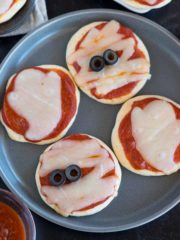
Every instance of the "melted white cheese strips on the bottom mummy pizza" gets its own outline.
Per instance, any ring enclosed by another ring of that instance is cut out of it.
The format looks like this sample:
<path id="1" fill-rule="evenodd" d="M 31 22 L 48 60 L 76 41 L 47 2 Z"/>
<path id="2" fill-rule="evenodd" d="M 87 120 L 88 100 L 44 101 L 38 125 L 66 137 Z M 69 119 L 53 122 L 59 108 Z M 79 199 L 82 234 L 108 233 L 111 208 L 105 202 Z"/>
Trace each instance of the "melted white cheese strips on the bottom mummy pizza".
<path id="1" fill-rule="evenodd" d="M 92 157 L 94 156 L 94 157 Z M 71 164 L 81 168 L 94 167 L 88 175 L 77 182 L 60 187 L 41 186 L 41 192 L 47 196 L 50 204 L 57 204 L 64 215 L 99 202 L 113 195 L 117 183 L 116 176 L 101 178 L 115 165 L 106 149 L 102 148 L 95 139 L 84 141 L 64 140 L 44 152 L 40 158 L 40 177 L 55 169 L 65 169 Z"/>

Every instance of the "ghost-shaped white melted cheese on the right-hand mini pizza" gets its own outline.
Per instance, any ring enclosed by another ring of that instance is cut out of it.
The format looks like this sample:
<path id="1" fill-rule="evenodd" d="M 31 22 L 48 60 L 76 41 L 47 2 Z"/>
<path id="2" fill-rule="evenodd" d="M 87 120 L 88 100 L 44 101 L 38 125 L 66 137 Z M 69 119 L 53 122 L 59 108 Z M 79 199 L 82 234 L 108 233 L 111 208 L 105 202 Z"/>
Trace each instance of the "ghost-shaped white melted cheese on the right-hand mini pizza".
<path id="1" fill-rule="evenodd" d="M 173 107 L 163 100 L 155 100 L 143 110 L 135 107 L 131 122 L 136 148 L 145 161 L 163 172 L 173 170 L 174 153 L 180 144 L 180 120 Z"/>

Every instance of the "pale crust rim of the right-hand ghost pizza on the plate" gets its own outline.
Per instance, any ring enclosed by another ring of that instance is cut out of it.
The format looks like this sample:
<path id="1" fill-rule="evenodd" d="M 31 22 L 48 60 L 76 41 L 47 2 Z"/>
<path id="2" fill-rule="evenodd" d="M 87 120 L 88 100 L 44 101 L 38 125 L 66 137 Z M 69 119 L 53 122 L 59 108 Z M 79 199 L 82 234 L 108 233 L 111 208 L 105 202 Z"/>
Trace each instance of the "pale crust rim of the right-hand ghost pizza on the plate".
<path id="1" fill-rule="evenodd" d="M 142 99 L 146 99 L 146 98 L 151 98 L 151 97 L 155 97 L 158 98 L 160 100 L 165 100 L 168 102 L 173 103 L 175 106 L 177 106 L 178 108 L 180 107 L 178 103 L 166 98 L 166 97 L 162 97 L 162 96 L 158 96 L 158 95 L 143 95 L 143 96 L 138 96 L 138 97 L 134 97 L 132 99 L 130 99 L 129 101 L 127 101 L 120 109 L 117 118 L 116 118 L 116 122 L 115 122 L 115 126 L 113 128 L 112 131 L 112 136 L 111 136 L 111 141 L 112 141 L 112 147 L 113 150 L 119 160 L 119 162 L 122 164 L 122 166 L 124 166 L 125 168 L 127 168 L 128 170 L 130 170 L 131 172 L 140 174 L 140 175 L 144 175 L 144 176 L 163 176 L 163 175 L 170 175 L 176 171 L 178 171 L 178 168 L 180 168 L 180 163 L 178 163 L 178 168 L 168 172 L 168 173 L 163 173 L 163 172 L 154 172 L 154 171 L 150 171 L 150 170 L 146 170 L 146 169 L 142 169 L 142 170 L 137 170 L 135 169 L 129 162 L 129 160 L 127 159 L 123 146 L 121 144 L 121 141 L 119 139 L 119 135 L 118 135 L 118 129 L 119 129 L 119 125 L 121 123 L 121 121 L 124 119 L 124 117 L 129 113 L 129 111 L 131 110 L 131 106 L 135 101 L 139 101 Z"/>

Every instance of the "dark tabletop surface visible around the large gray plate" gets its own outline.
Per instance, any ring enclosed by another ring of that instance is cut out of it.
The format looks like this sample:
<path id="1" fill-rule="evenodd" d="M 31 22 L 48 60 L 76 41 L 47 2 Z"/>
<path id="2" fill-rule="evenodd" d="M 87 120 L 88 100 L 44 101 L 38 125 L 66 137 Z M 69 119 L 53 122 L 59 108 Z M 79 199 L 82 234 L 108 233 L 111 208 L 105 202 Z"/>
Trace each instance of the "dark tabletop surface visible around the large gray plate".
<path id="1" fill-rule="evenodd" d="M 125 10 L 112 0 L 46 0 L 49 18 L 60 14 L 87 8 L 112 8 Z M 126 10 L 128 11 L 128 10 Z M 167 28 L 176 37 L 180 38 L 180 0 L 173 0 L 168 6 L 153 10 L 145 17 Z M 22 36 L 0 39 L 0 62 L 8 51 L 21 39 Z M 152 36 L 153 37 L 153 36 Z M 6 188 L 0 179 L 0 187 Z M 117 233 L 95 234 L 69 230 L 52 224 L 33 214 L 37 240 L 179 240 L 180 239 L 180 204 L 169 213 L 144 226 Z"/>

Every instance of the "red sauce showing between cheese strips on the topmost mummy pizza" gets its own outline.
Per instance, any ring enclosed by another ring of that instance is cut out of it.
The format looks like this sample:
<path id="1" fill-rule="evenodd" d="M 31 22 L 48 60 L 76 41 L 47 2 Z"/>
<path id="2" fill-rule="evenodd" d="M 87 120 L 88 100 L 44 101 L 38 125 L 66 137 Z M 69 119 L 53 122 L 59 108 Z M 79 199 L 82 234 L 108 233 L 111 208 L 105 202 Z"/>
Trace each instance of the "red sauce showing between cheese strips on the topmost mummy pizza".
<path id="1" fill-rule="evenodd" d="M 101 29 L 103 29 L 104 26 L 106 26 L 106 24 L 107 24 L 107 22 L 100 23 L 95 28 L 97 28 L 98 30 L 101 30 Z M 77 43 L 77 45 L 75 47 L 75 51 L 77 51 L 81 48 L 81 44 L 84 41 L 84 39 L 86 38 L 88 32 L 84 36 L 82 36 L 82 38 L 79 40 L 79 42 Z M 120 25 L 118 33 L 124 35 L 123 39 L 133 38 L 135 40 L 134 53 L 129 58 L 129 60 L 136 59 L 136 58 L 145 58 L 144 53 L 138 48 L 138 41 L 137 41 L 137 39 L 136 39 L 136 37 L 135 37 L 135 35 L 134 35 L 134 33 L 132 32 L 131 29 L 129 29 L 127 27 L 124 27 L 123 25 Z M 119 57 L 121 57 L 122 51 L 117 51 L 117 54 L 118 54 Z M 74 69 L 77 73 L 80 72 L 81 66 L 78 64 L 78 62 L 75 61 L 72 64 L 72 66 L 74 67 Z M 91 82 L 91 80 L 89 82 Z M 122 96 L 125 96 L 125 95 L 128 95 L 129 93 L 131 93 L 132 90 L 138 84 L 138 82 L 139 81 L 137 79 L 137 81 L 134 81 L 132 83 L 128 83 L 127 85 L 125 85 L 123 87 L 114 89 L 107 94 L 98 94 L 97 91 L 96 91 L 96 88 L 92 88 L 91 89 L 91 94 L 93 96 L 95 96 L 97 99 L 113 99 L 113 98 L 122 97 Z"/>

